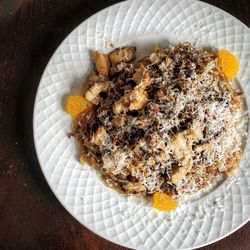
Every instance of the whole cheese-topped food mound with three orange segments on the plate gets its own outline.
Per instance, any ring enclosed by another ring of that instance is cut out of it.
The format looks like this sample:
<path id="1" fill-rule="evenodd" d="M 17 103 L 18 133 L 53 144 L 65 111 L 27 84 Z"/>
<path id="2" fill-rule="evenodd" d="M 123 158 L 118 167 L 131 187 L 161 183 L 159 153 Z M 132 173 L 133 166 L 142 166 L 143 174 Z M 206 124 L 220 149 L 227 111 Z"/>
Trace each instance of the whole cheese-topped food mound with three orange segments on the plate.
<path id="1" fill-rule="evenodd" d="M 67 101 L 72 135 L 108 186 L 171 210 L 239 164 L 239 65 L 226 50 L 189 43 L 135 58 L 132 46 L 93 53 L 88 89 Z"/>

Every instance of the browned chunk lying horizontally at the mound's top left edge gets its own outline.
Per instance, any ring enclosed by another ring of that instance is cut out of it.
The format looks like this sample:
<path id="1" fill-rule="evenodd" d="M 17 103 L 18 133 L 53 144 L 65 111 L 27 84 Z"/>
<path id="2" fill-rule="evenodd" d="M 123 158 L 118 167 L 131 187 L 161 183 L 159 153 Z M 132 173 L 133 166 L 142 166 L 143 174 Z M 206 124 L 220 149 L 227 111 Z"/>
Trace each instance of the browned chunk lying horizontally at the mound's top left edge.
<path id="1" fill-rule="evenodd" d="M 112 65 L 116 65 L 120 62 L 131 62 L 136 58 L 136 47 L 124 47 L 118 48 L 109 53 L 109 59 Z"/>

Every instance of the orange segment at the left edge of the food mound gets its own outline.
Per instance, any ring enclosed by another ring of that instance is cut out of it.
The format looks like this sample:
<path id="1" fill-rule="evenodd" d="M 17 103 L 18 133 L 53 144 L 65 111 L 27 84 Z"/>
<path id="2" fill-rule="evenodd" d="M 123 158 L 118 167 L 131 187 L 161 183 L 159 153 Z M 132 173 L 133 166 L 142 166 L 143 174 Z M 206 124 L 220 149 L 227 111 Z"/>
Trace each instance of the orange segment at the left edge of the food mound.
<path id="1" fill-rule="evenodd" d="M 91 106 L 92 104 L 82 96 L 68 96 L 65 109 L 71 116 L 75 117 Z"/>

